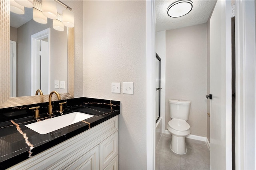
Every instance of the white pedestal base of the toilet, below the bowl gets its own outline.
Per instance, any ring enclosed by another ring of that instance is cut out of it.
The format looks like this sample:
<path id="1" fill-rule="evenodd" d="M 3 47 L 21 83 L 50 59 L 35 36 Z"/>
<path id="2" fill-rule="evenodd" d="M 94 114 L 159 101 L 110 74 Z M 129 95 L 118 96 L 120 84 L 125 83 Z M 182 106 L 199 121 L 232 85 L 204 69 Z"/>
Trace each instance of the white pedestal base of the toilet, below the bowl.
<path id="1" fill-rule="evenodd" d="M 176 154 L 186 154 L 187 146 L 185 142 L 185 137 L 178 137 L 172 134 L 172 142 L 170 148 L 172 152 Z"/>

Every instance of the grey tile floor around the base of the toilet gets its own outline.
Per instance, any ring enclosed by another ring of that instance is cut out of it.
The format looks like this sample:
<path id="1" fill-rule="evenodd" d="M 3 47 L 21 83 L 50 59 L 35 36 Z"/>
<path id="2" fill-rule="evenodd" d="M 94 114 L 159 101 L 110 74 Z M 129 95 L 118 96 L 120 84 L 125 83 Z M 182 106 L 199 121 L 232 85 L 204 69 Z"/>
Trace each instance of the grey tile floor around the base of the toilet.
<path id="1" fill-rule="evenodd" d="M 206 142 L 186 138 L 187 153 L 170 150 L 172 135 L 162 134 L 156 146 L 156 170 L 210 170 L 210 150 Z"/>

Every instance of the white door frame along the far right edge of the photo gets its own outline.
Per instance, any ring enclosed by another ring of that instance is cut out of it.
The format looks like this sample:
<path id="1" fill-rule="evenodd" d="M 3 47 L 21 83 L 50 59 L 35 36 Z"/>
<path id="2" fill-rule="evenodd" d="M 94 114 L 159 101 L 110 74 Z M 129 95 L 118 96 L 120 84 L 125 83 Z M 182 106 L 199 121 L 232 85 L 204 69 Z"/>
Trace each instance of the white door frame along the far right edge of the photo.
<path id="1" fill-rule="evenodd" d="M 255 169 L 255 2 L 235 1 L 236 169 Z"/>

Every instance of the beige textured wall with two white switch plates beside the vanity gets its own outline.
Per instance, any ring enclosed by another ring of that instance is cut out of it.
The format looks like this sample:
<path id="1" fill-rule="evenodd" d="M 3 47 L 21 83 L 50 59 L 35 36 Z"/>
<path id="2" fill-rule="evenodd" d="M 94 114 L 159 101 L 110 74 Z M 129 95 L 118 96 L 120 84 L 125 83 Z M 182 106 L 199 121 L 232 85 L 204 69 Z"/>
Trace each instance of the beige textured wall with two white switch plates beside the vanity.
<path id="1" fill-rule="evenodd" d="M 146 169 L 146 2 L 84 1 L 84 97 L 121 101 L 119 169 Z M 134 82 L 134 95 L 111 82 Z"/>

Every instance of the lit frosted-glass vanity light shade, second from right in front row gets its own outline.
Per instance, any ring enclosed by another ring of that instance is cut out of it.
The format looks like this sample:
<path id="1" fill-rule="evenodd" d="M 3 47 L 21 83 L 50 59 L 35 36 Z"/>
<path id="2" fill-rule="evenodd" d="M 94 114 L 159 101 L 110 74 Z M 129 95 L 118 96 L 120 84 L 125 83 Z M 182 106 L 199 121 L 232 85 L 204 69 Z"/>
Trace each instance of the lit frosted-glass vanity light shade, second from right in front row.
<path id="1" fill-rule="evenodd" d="M 47 18 L 57 18 L 57 4 L 55 0 L 42 0 L 42 10 Z"/>

